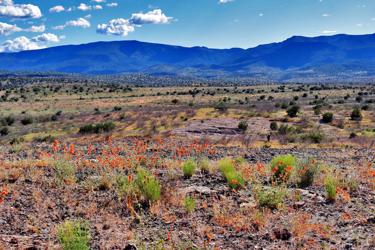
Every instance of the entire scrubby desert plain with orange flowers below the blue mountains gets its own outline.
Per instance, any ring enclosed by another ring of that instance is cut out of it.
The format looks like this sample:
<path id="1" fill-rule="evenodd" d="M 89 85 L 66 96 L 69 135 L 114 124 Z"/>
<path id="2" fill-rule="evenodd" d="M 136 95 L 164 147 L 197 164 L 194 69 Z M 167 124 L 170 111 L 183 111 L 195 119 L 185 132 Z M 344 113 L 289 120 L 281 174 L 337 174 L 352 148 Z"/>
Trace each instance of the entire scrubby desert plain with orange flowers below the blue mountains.
<path id="1" fill-rule="evenodd" d="M 0 249 L 374 248 L 374 84 L 0 96 Z"/>

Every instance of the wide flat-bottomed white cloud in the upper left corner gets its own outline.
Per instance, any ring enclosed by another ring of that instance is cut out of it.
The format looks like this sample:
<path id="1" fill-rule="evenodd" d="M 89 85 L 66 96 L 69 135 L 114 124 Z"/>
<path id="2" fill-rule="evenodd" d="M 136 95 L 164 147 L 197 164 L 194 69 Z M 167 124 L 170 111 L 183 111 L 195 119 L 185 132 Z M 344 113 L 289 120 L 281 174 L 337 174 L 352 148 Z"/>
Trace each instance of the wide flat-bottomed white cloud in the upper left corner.
<path id="1" fill-rule="evenodd" d="M 42 13 L 34 5 L 0 5 L 0 17 L 14 19 L 40 18 Z"/>

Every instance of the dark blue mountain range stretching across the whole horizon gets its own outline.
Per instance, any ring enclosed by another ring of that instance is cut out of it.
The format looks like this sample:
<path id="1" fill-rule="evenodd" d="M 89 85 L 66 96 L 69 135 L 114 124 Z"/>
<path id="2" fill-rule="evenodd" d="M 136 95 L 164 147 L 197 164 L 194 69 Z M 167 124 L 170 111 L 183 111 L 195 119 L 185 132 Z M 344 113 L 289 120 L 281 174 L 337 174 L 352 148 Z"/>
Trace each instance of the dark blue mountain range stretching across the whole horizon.
<path id="1" fill-rule="evenodd" d="M 338 81 L 375 76 L 375 33 L 293 36 L 246 50 L 187 48 L 139 41 L 93 42 L 0 53 L 0 69 Z"/>

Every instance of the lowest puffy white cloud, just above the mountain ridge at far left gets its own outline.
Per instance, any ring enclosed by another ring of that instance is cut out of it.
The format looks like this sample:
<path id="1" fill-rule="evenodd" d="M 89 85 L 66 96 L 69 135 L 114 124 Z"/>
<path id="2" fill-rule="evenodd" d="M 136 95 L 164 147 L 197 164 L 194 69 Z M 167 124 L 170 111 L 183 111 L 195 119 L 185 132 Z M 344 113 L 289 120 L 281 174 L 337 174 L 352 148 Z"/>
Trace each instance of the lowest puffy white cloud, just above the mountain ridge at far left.
<path id="1" fill-rule="evenodd" d="M 65 38 L 65 36 L 60 36 L 58 38 L 56 35 L 48 33 L 42 34 L 40 36 L 28 39 L 25 36 L 20 36 L 13 40 L 5 41 L 0 46 L 0 52 L 18 52 L 22 50 L 39 50 L 46 48 L 45 44 L 48 42 L 59 42 L 60 39 Z"/>

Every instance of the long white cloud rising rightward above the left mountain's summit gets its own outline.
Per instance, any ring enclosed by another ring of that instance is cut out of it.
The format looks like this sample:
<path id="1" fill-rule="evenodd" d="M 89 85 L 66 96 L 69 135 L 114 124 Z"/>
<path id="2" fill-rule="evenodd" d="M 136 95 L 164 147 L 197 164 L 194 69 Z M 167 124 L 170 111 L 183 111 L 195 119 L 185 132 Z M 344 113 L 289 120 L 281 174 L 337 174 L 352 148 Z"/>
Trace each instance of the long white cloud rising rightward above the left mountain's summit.
<path id="1" fill-rule="evenodd" d="M 96 26 L 96 33 L 103 35 L 127 36 L 134 31 L 134 27 L 143 24 L 168 24 L 173 17 L 166 17 L 160 9 L 149 11 L 146 14 L 133 14 L 129 19 L 118 18 L 111 20 L 108 24 Z"/>

